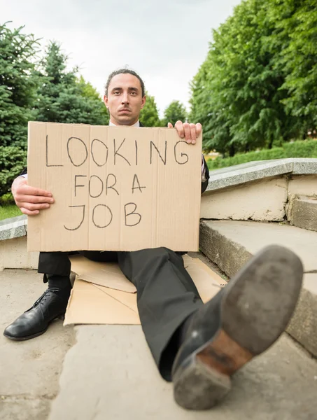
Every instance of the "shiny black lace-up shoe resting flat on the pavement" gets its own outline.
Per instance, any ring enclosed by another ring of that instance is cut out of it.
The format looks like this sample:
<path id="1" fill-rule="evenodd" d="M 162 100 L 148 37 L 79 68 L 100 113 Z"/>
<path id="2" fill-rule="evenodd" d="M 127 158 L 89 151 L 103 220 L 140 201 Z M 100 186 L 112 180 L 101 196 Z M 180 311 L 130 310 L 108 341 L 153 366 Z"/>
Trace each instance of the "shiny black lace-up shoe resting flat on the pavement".
<path id="1" fill-rule="evenodd" d="M 43 334 L 50 322 L 64 316 L 69 294 L 70 290 L 48 288 L 30 309 L 8 325 L 3 335 L 10 339 L 23 340 Z"/>

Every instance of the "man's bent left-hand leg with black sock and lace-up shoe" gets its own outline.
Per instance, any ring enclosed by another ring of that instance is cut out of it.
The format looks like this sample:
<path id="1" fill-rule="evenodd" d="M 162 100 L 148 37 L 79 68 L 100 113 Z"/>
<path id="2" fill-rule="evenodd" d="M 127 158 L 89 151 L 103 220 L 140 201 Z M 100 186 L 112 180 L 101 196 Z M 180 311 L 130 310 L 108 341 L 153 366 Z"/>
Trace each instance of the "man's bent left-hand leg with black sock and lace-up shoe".
<path id="1" fill-rule="evenodd" d="M 3 335 L 10 339 L 24 340 L 38 337 L 48 329 L 48 325 L 55 318 L 65 314 L 71 293 L 69 279 L 71 262 L 67 253 L 40 253 L 38 272 L 45 273 L 44 282 L 48 282 L 48 288 L 30 309 L 4 330 Z"/>

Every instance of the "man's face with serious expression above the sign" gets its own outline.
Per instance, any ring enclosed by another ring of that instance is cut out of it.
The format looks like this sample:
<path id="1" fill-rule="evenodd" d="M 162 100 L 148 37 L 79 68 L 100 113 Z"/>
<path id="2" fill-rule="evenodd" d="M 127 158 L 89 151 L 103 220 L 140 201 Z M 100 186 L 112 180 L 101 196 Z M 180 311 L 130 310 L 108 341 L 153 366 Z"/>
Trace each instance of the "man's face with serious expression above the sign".
<path id="1" fill-rule="evenodd" d="M 104 103 L 110 112 L 111 123 L 135 124 L 146 103 L 146 97 L 142 97 L 140 80 L 129 73 L 113 76 L 108 86 L 108 96 L 104 96 Z"/>

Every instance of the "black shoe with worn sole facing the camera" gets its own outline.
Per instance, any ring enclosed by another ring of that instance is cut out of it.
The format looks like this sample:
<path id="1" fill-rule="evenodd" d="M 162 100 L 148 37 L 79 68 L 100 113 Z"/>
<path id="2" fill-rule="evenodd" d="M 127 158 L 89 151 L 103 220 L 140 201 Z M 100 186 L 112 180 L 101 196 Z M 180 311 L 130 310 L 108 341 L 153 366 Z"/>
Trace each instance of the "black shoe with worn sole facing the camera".
<path id="1" fill-rule="evenodd" d="M 302 262 L 268 246 L 193 315 L 172 368 L 174 398 L 209 409 L 230 391 L 230 377 L 285 330 L 302 286 Z"/>

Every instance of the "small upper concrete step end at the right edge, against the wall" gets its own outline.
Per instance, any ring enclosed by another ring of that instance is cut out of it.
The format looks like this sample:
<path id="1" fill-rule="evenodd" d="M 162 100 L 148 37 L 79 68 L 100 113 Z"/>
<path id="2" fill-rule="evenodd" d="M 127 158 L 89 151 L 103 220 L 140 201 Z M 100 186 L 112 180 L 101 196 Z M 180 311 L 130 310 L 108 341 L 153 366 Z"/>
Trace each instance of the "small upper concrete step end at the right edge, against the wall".
<path id="1" fill-rule="evenodd" d="M 288 220 L 298 228 L 317 232 L 317 199 L 296 197 L 290 201 Z"/>

